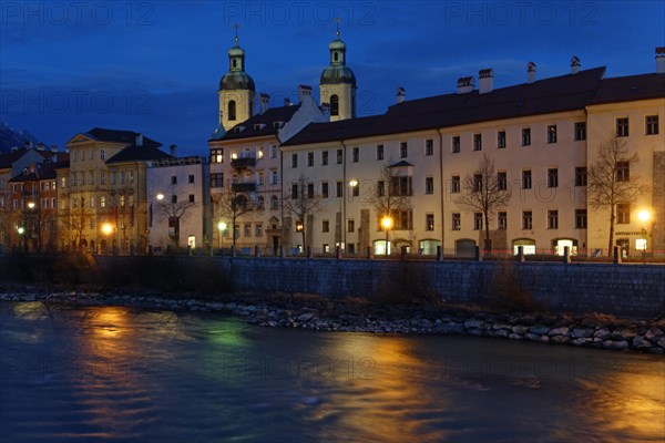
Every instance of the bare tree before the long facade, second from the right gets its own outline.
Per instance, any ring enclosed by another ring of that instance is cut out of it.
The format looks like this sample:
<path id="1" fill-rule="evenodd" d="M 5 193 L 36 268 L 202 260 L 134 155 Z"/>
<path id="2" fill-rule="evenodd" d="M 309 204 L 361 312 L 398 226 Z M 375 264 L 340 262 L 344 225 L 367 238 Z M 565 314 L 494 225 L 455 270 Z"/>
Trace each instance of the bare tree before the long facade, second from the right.
<path id="1" fill-rule="evenodd" d="M 503 209 L 510 203 L 512 192 L 505 177 L 500 177 L 494 168 L 494 159 L 488 154 L 482 156 L 474 174 L 467 174 L 462 192 L 454 199 L 462 209 L 482 213 L 485 228 L 484 250 L 491 251 L 490 218 L 493 213 Z"/>

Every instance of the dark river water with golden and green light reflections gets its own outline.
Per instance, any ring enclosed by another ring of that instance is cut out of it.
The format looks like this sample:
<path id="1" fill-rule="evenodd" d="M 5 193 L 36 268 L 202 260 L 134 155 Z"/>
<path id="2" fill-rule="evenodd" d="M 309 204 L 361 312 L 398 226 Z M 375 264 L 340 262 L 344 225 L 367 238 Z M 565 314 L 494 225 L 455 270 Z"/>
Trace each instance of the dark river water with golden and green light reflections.
<path id="1" fill-rule="evenodd" d="M 665 358 L 0 303 L 2 442 L 663 442 Z"/>

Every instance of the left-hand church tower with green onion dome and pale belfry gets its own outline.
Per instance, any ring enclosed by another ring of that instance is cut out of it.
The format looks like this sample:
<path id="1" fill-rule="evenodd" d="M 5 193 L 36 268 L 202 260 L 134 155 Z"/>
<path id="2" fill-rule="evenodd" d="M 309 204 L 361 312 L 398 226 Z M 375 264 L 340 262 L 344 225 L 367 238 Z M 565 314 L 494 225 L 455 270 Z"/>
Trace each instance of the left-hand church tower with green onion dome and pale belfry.
<path id="1" fill-rule="evenodd" d="M 219 81 L 219 125 L 228 131 L 254 115 L 254 80 L 245 72 L 245 51 L 238 45 L 228 50 L 228 72 Z"/>

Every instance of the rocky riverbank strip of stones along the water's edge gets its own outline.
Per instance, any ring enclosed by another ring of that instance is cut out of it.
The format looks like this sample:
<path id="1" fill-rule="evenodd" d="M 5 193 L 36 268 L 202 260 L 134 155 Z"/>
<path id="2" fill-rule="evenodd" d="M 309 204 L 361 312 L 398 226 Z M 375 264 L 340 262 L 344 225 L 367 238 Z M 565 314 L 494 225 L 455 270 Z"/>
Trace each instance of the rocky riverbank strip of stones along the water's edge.
<path id="1" fill-rule="evenodd" d="M 315 295 L 253 293 L 196 298 L 154 291 L 52 292 L 4 289 L 0 301 L 42 301 L 71 306 L 127 306 L 142 309 L 219 311 L 262 327 L 320 331 L 467 334 L 610 350 L 665 353 L 665 319 L 631 320 L 605 315 L 493 312 L 469 306 L 385 306 L 360 298 L 330 300 Z"/>

